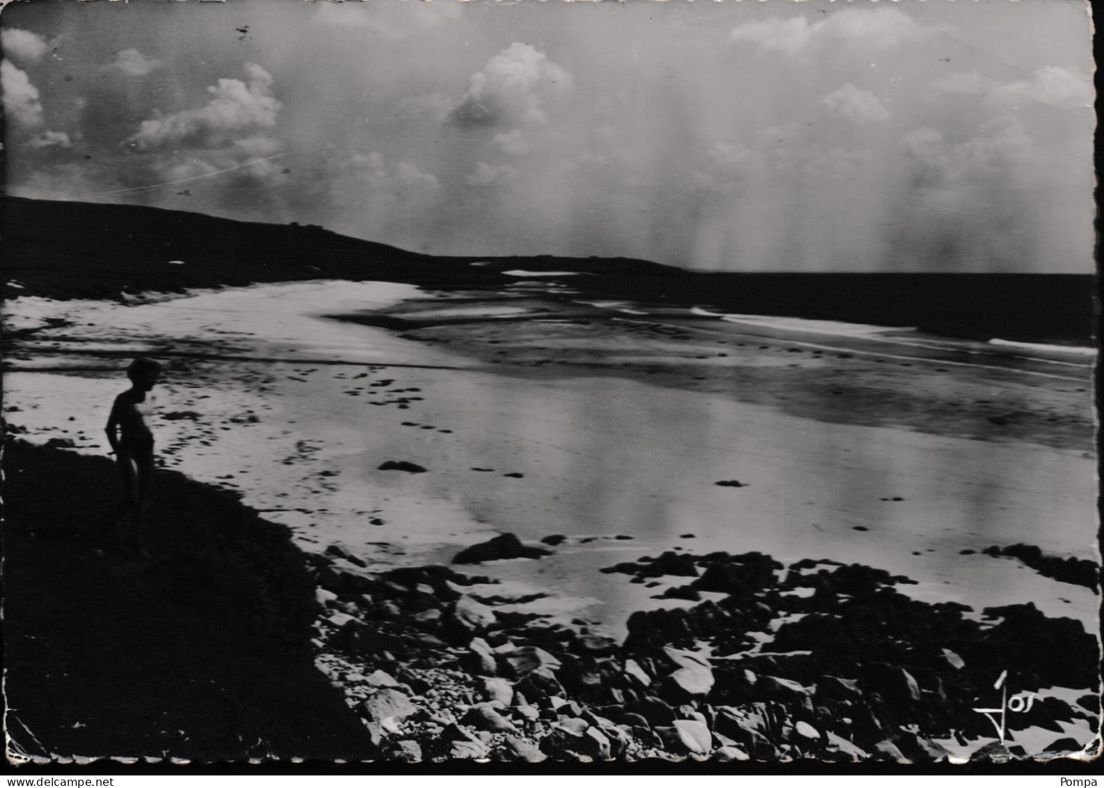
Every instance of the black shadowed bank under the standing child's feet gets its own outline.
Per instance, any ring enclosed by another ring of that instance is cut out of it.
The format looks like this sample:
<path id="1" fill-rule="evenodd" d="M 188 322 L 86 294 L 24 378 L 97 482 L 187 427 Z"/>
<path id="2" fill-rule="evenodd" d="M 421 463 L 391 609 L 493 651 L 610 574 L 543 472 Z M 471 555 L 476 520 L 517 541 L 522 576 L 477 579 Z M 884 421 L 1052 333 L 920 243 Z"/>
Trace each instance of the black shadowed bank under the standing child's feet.
<path id="1" fill-rule="evenodd" d="M 109 459 L 9 443 L 3 471 L 17 747 L 201 762 L 374 752 L 314 667 L 315 584 L 285 526 L 158 471 L 152 557 L 100 557 L 87 541 L 117 505 Z"/>

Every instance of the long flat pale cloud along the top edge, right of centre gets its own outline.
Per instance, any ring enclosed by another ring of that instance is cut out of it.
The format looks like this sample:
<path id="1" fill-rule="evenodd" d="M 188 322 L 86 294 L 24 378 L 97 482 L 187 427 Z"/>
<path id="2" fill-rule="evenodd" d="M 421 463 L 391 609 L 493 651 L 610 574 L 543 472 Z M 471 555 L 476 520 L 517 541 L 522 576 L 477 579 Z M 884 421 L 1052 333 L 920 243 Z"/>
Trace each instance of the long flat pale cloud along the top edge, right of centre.
<path id="1" fill-rule="evenodd" d="M 761 53 L 795 55 L 829 42 L 891 49 L 934 32 L 895 8 L 845 9 L 811 23 L 805 17 L 795 17 L 737 24 L 729 32 L 729 41 L 755 44 Z"/>

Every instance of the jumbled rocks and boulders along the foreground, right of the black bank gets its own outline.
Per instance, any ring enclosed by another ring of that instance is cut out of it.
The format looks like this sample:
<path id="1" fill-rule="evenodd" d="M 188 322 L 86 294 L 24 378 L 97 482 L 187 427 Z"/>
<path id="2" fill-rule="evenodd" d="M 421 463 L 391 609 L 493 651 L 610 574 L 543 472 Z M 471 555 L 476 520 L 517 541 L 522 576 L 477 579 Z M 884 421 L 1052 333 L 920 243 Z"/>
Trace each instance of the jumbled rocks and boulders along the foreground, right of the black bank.
<path id="1" fill-rule="evenodd" d="M 503 534 L 454 564 L 506 557 L 502 545 L 540 550 Z M 617 642 L 517 611 L 524 599 L 486 576 L 375 567 L 339 544 L 308 557 L 317 664 L 380 759 L 935 762 L 954 739 L 999 760 L 1082 752 L 1089 732 L 1078 741 L 1060 722 L 1097 732 L 1097 643 L 1079 621 L 1032 605 L 975 620 L 858 564 L 675 552 L 618 564 L 606 571 L 635 583 L 683 576 L 664 596 L 698 604 L 634 614 Z M 1005 745 L 974 711 L 999 701 L 1002 671 L 1038 693 L 1008 715 Z M 1081 692 L 1068 702 L 1055 686 Z M 1029 727 L 1054 741 L 1026 750 L 1016 735 Z"/>

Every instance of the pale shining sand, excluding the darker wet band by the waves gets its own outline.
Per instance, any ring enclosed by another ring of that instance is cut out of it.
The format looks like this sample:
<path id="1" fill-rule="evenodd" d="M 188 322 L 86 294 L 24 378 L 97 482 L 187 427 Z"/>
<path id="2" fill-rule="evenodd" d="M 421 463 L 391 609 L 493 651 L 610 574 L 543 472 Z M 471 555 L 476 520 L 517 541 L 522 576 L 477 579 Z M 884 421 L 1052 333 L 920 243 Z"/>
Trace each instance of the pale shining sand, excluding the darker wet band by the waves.
<path id="1" fill-rule="evenodd" d="M 787 563 L 858 562 L 919 581 L 902 590 L 926 600 L 955 599 L 977 609 L 1033 601 L 1048 615 L 1075 616 L 1095 627 L 1087 589 L 1048 581 L 1015 561 L 959 554 L 1027 542 L 1049 553 L 1093 557 L 1094 464 L 1078 452 L 819 422 L 731 394 L 612 374 L 496 374 L 447 345 L 300 317 L 318 313 L 339 285 L 253 288 L 147 307 L 95 305 L 100 340 L 141 336 L 135 332 L 142 326 L 148 337 L 197 338 L 217 326 L 235 333 L 215 337 L 231 337 L 251 354 L 289 359 L 204 362 L 188 379 L 168 376 L 167 408 L 192 403 L 187 407 L 211 424 L 253 408 L 261 423 L 213 429 L 210 447 L 184 440 L 191 423 L 164 422 L 158 436 L 159 446 L 182 440 L 172 467 L 213 483 L 229 483 L 217 477 L 234 473 L 233 484 L 251 505 L 309 509 L 266 514 L 291 525 L 307 547 L 340 540 L 373 552 L 372 543 L 390 542 L 411 556 L 447 562 L 455 547 L 443 543 L 468 544 L 496 531 L 526 540 L 631 535 L 572 539 L 540 562 L 479 569 L 552 587 L 580 605 L 599 600 L 591 615 L 611 624 L 634 609 L 679 603 L 649 599 L 662 587 L 646 589 L 626 575 L 597 569 L 680 546 L 694 553 L 760 551 Z M 368 286 L 361 290 L 371 292 Z M 379 290 L 375 298 L 383 304 L 402 295 Z M 85 307 L 57 308 L 79 313 Z M 301 372 L 308 361 L 295 363 L 299 356 L 402 359 L 450 369 L 388 368 L 354 379 L 367 368 L 315 365 L 308 374 Z M 266 375 L 272 380 L 258 391 Z M 369 385 L 382 380 L 393 383 Z M 89 391 L 103 390 L 96 396 L 108 402 L 121 381 L 28 373 L 10 375 L 6 384 L 8 402 L 40 406 L 19 414 L 21 423 L 45 427 L 61 413 L 75 413 L 81 420 L 74 429 L 98 435 L 100 414 L 86 413 Z M 360 395 L 349 394 L 357 388 Z M 384 401 L 380 392 L 392 388 L 423 398 L 405 409 L 368 404 Z M 198 400 L 200 392 L 210 398 Z M 304 440 L 317 451 L 307 452 L 309 460 L 285 462 Z M 416 462 L 428 472 L 380 471 L 385 460 Z M 323 470 L 335 475 L 319 476 Z M 715 484 L 728 479 L 746 487 Z M 371 518 L 384 524 L 371 525 Z M 680 537 L 688 533 L 694 537 Z"/>

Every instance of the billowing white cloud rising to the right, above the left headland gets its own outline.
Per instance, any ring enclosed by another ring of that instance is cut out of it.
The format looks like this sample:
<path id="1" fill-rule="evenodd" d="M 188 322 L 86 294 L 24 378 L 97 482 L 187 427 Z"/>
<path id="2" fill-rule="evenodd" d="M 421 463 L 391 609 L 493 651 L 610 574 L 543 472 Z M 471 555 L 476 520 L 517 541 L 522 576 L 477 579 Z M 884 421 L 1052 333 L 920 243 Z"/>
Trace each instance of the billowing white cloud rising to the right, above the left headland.
<path id="1" fill-rule="evenodd" d="M 282 105 L 273 96 L 272 74 L 256 63 L 246 63 L 245 74 L 247 83 L 222 78 L 208 87 L 214 97 L 205 106 L 144 120 L 126 145 L 137 151 L 180 145 L 222 147 L 243 134 L 274 127 Z"/>

